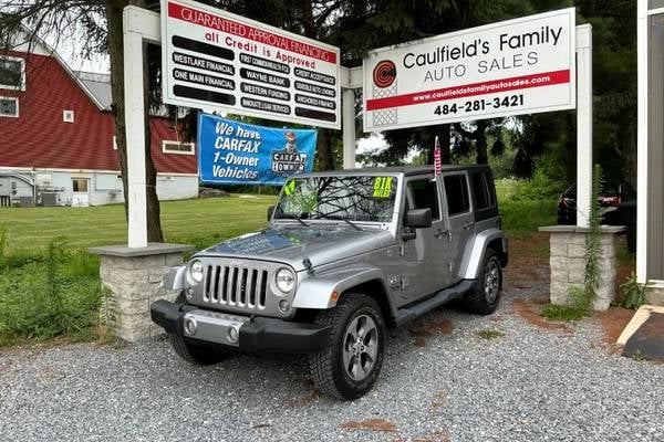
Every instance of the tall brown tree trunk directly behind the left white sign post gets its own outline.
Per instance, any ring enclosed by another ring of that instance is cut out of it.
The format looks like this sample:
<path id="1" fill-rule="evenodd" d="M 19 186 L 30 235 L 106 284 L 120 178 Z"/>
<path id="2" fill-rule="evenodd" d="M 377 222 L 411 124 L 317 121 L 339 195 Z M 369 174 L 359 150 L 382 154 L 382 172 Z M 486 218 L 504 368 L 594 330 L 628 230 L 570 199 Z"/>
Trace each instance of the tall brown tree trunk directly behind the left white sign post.
<path id="1" fill-rule="evenodd" d="M 124 190 L 125 219 L 128 220 L 128 181 L 127 181 L 127 140 L 125 126 L 124 103 L 124 45 L 123 45 L 123 10 L 128 4 L 143 6 L 143 1 L 132 0 L 107 0 L 106 20 L 108 23 L 108 55 L 111 63 L 111 91 L 113 94 L 112 112 L 115 120 L 115 137 L 117 144 L 117 156 L 120 158 L 120 170 L 122 175 L 122 187 Z M 143 66 L 144 77 L 147 67 Z M 144 80 L 144 85 L 147 82 Z M 151 130 L 149 108 L 147 99 L 147 87 L 145 87 L 145 179 L 147 197 L 147 241 L 163 242 L 162 220 L 159 217 L 159 200 L 157 199 L 157 171 L 151 155 Z"/>

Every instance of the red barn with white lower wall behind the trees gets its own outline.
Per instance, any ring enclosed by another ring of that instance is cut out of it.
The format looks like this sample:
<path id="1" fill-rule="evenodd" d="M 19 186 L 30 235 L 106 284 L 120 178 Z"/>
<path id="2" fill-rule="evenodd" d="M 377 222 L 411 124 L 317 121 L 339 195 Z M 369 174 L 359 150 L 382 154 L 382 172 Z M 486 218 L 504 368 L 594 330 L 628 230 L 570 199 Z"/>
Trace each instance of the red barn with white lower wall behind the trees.
<path id="1" fill-rule="evenodd" d="M 124 200 L 110 76 L 73 72 L 43 42 L 0 54 L 0 204 Z M 198 196 L 196 149 L 151 119 L 159 199 Z"/>

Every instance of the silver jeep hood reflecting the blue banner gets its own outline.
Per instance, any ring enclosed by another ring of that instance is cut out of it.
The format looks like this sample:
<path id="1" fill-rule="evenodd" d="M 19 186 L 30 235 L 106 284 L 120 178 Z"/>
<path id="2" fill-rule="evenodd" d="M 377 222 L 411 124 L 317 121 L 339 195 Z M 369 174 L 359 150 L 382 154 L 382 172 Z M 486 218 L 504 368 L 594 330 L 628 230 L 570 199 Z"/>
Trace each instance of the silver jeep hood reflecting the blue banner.
<path id="1" fill-rule="evenodd" d="M 238 236 L 196 255 L 279 261 L 299 272 L 307 269 L 302 263 L 305 257 L 317 267 L 392 244 L 392 233 L 376 228 L 359 231 L 350 225 L 283 227 Z"/>

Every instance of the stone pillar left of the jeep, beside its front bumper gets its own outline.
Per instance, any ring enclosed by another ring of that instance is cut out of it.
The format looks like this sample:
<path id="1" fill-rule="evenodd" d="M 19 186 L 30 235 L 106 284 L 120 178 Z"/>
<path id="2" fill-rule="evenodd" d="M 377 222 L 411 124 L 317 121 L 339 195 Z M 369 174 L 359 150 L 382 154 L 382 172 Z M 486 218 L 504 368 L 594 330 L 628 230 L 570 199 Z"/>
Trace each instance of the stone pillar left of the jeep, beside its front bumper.
<path id="1" fill-rule="evenodd" d="M 151 243 L 146 248 L 124 245 L 92 248 L 89 252 L 101 256 L 100 275 L 104 287 L 112 293 L 111 308 L 114 333 L 118 338 L 135 343 L 156 336 L 164 329 L 149 317 L 149 306 L 157 299 L 174 301 L 177 292 L 160 287 L 168 267 L 183 262 L 183 253 L 190 245 Z"/>

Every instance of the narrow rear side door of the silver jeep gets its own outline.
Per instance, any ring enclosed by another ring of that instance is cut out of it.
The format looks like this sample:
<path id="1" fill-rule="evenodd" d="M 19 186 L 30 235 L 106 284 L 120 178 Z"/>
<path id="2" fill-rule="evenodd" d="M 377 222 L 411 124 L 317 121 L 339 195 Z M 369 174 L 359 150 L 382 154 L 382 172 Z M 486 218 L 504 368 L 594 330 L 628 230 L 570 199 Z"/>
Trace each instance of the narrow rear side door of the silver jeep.
<path id="1" fill-rule="evenodd" d="M 460 281 L 459 265 L 466 244 L 475 235 L 475 217 L 470 203 L 468 173 L 455 171 L 443 175 L 445 209 L 449 223 L 448 246 L 450 261 L 447 267 L 449 284 Z"/>

